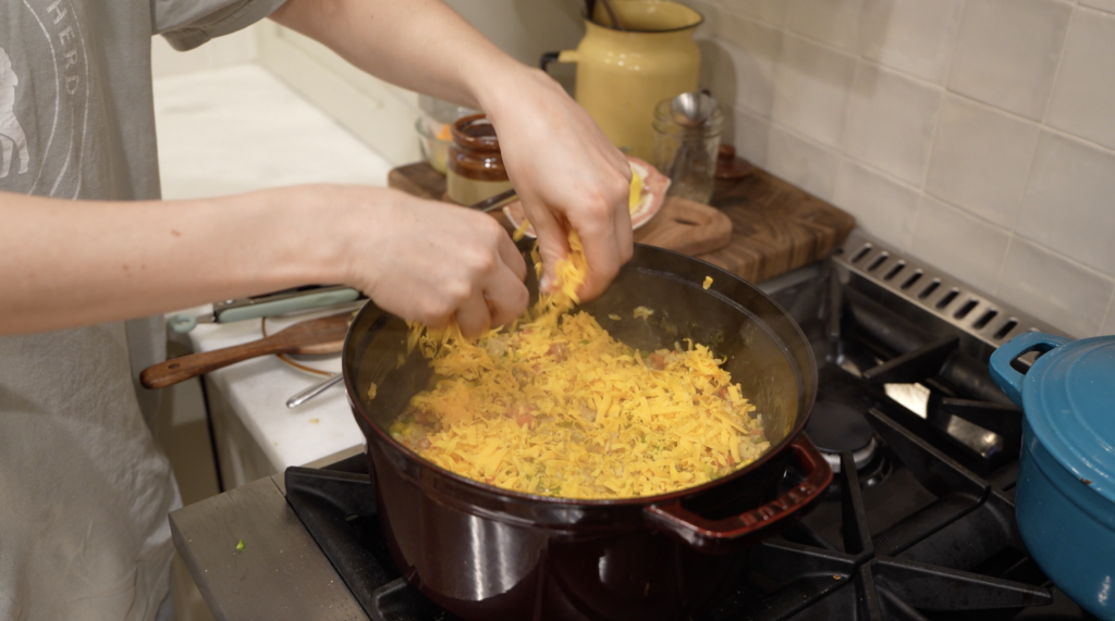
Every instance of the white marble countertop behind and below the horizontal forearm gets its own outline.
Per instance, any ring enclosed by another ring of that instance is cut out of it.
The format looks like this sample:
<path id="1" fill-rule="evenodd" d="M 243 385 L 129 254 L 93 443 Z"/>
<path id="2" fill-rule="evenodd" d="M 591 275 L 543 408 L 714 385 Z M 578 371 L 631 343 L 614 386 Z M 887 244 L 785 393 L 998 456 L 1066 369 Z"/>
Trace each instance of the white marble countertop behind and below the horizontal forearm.
<path id="1" fill-rule="evenodd" d="M 165 198 L 307 183 L 384 186 L 391 165 L 264 69 L 242 65 L 155 81 Z M 197 352 L 261 337 L 260 321 L 200 325 Z M 338 387 L 297 410 L 287 400 L 320 379 L 274 356 L 210 374 L 275 472 L 363 443 Z"/>

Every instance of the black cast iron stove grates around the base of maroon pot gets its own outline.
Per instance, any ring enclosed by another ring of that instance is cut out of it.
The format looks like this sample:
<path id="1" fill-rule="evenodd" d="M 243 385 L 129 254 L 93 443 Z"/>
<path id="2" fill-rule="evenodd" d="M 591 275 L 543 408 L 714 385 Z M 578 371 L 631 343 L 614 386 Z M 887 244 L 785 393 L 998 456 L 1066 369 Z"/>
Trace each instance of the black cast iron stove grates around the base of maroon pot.
<path id="1" fill-rule="evenodd" d="M 883 400 L 876 405 L 867 420 L 882 445 L 875 459 L 890 461 L 882 482 L 862 483 L 843 453 L 816 510 L 756 546 L 753 570 L 702 619 L 1088 619 L 1026 555 L 1010 491 L 885 414 Z M 288 469 L 285 483 L 289 503 L 371 619 L 454 619 L 390 559 L 363 455 L 320 471 Z"/>

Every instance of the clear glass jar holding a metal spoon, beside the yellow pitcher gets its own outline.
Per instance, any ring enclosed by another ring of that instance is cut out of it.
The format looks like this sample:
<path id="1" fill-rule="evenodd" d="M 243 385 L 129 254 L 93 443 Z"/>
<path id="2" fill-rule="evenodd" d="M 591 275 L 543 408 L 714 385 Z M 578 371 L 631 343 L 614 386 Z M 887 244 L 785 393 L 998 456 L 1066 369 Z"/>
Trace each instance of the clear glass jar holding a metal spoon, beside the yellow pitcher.
<path id="1" fill-rule="evenodd" d="M 670 114 L 670 101 L 666 99 L 655 106 L 651 164 L 670 178 L 669 196 L 707 204 L 712 197 L 724 114 L 715 106 L 712 114 L 697 127 L 682 127 Z"/>

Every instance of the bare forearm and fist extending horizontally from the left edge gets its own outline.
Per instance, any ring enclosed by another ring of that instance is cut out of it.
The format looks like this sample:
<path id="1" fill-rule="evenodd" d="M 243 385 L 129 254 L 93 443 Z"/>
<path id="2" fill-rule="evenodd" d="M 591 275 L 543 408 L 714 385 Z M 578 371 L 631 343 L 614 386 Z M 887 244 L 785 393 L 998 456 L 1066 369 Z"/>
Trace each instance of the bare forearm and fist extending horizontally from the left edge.
<path id="1" fill-rule="evenodd" d="M 408 321 L 477 334 L 526 307 L 526 266 L 491 217 L 380 188 L 203 200 L 0 193 L 0 334 L 342 283 Z"/>

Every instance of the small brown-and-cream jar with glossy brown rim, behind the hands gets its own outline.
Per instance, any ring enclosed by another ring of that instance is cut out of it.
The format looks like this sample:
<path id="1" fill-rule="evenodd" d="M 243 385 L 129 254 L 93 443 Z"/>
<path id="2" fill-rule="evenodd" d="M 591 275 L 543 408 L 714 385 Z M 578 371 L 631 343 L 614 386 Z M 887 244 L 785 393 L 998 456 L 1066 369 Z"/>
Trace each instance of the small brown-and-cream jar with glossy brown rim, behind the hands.
<path id="1" fill-rule="evenodd" d="M 457 119 L 446 166 L 446 197 L 473 205 L 511 189 L 492 121 L 484 115 Z"/>

